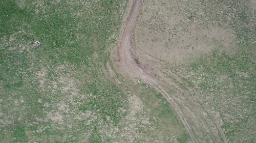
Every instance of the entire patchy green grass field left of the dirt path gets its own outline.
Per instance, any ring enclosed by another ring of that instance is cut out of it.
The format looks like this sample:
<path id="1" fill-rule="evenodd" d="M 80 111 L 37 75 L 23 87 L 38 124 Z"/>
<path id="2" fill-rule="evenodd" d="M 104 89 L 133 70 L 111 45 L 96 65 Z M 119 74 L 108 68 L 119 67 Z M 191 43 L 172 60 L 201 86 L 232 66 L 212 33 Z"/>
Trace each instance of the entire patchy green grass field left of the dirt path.
<path id="1" fill-rule="evenodd" d="M 117 0 L 0 2 L 0 142 L 188 140 L 159 94 L 117 85 L 105 72 L 125 7 Z"/>

